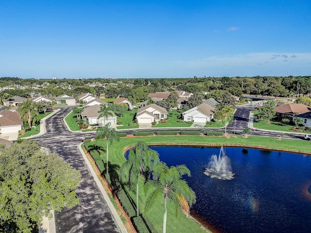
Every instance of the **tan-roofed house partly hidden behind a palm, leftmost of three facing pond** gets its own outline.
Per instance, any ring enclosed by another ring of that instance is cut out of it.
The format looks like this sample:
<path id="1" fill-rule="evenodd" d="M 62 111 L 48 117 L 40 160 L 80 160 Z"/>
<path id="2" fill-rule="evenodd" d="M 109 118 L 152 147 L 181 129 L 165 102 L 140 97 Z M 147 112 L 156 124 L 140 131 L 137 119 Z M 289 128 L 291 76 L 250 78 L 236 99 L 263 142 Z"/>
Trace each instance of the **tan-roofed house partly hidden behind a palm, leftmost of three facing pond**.
<path id="1" fill-rule="evenodd" d="M 98 111 L 100 111 L 101 106 L 98 104 L 89 106 L 88 108 L 85 108 L 83 110 L 83 112 L 81 113 L 82 119 L 88 121 L 89 124 L 102 124 L 105 125 L 108 122 L 110 122 L 110 125 L 112 127 L 115 127 L 115 125 L 117 124 L 117 116 L 115 115 L 115 113 L 111 112 L 112 116 L 105 116 L 105 117 L 101 117 L 98 119 L 98 116 L 100 115 L 100 113 L 98 113 Z"/>

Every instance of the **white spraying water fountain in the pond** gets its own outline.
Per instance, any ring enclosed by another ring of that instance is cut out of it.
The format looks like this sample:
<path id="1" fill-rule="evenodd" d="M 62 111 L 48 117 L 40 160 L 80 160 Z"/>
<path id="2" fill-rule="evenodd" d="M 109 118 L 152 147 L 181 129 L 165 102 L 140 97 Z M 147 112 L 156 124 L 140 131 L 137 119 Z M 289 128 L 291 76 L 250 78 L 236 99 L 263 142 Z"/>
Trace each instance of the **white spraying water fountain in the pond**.
<path id="1" fill-rule="evenodd" d="M 230 159 L 225 155 L 224 147 L 220 149 L 218 157 L 216 154 L 212 155 L 204 174 L 220 180 L 233 179 L 234 173 L 231 171 Z"/>

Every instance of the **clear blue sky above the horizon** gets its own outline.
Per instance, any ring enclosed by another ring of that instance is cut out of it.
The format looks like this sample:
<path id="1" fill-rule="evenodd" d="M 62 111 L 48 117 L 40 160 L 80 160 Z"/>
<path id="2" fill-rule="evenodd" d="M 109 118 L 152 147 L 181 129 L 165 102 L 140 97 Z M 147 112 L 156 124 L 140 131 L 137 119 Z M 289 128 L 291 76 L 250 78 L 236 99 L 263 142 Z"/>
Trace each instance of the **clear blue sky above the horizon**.
<path id="1" fill-rule="evenodd" d="M 311 75 L 310 0 L 1 0 L 0 32 L 0 77 Z"/>

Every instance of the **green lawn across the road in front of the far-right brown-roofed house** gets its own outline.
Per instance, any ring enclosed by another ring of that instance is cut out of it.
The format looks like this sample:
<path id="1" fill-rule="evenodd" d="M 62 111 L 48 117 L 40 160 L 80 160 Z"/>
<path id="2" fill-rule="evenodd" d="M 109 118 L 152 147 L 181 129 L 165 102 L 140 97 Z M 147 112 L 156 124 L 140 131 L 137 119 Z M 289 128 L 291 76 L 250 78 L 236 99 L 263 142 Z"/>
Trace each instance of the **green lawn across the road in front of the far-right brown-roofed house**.
<path id="1" fill-rule="evenodd" d="M 293 125 L 290 124 L 284 124 L 281 121 L 276 120 L 270 120 L 270 123 L 268 123 L 268 119 L 257 119 L 257 114 L 259 114 L 259 111 L 252 111 L 254 113 L 254 128 L 263 129 L 263 130 L 273 130 L 273 131 L 285 131 L 285 132 L 294 132 L 291 130 L 293 128 Z"/>

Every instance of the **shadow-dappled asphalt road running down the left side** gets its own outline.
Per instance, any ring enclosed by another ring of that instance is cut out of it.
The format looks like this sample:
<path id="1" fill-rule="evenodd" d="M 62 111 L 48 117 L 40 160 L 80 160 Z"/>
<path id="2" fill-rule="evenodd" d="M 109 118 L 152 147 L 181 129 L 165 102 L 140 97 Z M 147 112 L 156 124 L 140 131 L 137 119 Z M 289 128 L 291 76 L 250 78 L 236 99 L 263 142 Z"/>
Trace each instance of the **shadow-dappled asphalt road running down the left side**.
<path id="1" fill-rule="evenodd" d="M 78 144 L 81 133 L 69 132 L 63 118 L 72 110 L 62 108 L 46 120 L 46 133 L 34 138 L 41 146 L 59 154 L 66 162 L 80 170 L 82 180 L 76 189 L 80 205 L 55 212 L 56 233 L 118 233 L 121 232 L 114 216 L 86 166 Z"/>

